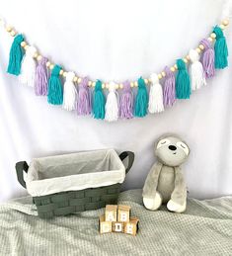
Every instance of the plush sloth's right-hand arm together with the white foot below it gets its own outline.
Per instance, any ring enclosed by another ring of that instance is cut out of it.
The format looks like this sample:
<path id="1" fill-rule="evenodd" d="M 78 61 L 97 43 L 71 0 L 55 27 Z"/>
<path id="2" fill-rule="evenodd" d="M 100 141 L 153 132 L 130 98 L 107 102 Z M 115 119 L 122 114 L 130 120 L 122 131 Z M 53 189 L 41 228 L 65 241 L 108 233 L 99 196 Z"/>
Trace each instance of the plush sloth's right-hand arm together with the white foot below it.
<path id="1" fill-rule="evenodd" d="M 170 211 L 183 213 L 186 210 L 187 187 L 181 167 L 175 167 L 175 189 L 168 203 Z"/>

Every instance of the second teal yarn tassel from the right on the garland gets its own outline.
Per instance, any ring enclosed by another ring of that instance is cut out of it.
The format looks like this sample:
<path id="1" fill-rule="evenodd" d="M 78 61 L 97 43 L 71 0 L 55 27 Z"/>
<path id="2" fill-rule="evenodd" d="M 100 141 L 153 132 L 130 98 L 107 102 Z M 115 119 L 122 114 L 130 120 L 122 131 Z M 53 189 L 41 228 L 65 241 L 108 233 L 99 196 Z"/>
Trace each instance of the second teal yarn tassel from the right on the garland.
<path id="1" fill-rule="evenodd" d="M 178 73 L 176 77 L 176 96 L 177 99 L 190 99 L 191 79 L 186 63 L 182 59 L 177 60 Z"/>

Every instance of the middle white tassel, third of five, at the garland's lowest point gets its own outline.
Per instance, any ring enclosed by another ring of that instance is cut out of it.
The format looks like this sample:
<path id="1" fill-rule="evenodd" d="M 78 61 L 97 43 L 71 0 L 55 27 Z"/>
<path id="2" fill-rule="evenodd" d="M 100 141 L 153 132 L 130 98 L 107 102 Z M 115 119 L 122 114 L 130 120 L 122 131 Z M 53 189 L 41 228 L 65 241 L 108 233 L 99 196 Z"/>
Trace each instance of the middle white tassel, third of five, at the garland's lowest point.
<path id="1" fill-rule="evenodd" d="M 118 94 L 116 92 L 116 84 L 111 82 L 109 85 L 109 94 L 106 103 L 105 120 L 114 122 L 118 119 Z"/>

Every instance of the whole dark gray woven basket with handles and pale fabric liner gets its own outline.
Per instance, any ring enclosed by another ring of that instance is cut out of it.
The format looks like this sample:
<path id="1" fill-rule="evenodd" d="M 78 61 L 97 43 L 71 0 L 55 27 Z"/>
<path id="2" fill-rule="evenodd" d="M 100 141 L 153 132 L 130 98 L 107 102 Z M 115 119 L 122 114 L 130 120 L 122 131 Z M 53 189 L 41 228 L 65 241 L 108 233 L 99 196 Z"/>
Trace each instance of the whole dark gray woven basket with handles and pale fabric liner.
<path id="1" fill-rule="evenodd" d="M 125 169 L 121 161 L 126 157 Z M 121 183 L 133 160 L 130 151 L 117 156 L 113 149 L 98 150 L 37 158 L 30 167 L 21 161 L 16 164 L 16 171 L 20 184 L 33 196 L 39 217 L 51 218 L 116 204 Z M 96 172 L 89 169 L 93 166 Z M 28 173 L 26 181 L 24 172 Z"/>

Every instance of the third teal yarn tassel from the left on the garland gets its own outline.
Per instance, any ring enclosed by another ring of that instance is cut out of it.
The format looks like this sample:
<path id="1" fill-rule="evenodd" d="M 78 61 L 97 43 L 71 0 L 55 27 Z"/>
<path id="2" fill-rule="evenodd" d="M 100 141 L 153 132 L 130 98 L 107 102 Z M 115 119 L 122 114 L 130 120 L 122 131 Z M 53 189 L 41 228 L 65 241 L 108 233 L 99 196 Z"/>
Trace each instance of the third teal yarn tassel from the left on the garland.
<path id="1" fill-rule="evenodd" d="M 103 93 L 102 82 L 98 80 L 95 85 L 94 106 L 93 106 L 93 113 L 94 113 L 95 119 L 98 119 L 98 120 L 105 119 L 105 104 L 106 104 L 106 98 Z"/>

